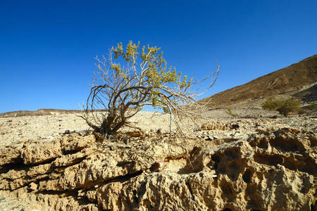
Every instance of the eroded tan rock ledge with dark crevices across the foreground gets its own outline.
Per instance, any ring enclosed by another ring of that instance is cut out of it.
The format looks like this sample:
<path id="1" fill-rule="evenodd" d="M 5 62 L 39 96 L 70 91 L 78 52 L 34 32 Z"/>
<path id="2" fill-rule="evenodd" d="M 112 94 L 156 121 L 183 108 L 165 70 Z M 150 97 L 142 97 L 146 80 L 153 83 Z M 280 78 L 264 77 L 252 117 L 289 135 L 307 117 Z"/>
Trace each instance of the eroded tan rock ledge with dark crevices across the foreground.
<path id="1" fill-rule="evenodd" d="M 1 148 L 1 191 L 37 202 L 39 210 L 315 209 L 313 131 L 258 130 L 226 139 L 197 132 L 183 145 L 170 144 L 166 134 L 130 136 L 129 143 L 95 137 L 65 134 Z"/>

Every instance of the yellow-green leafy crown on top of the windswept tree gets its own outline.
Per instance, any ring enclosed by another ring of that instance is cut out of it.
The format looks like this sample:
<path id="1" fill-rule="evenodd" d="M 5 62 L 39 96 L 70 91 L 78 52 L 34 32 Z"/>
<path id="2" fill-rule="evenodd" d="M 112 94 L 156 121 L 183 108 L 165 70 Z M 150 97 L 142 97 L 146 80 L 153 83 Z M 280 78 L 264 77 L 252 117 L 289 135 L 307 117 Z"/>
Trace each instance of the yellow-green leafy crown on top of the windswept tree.
<path id="1" fill-rule="evenodd" d="M 111 53 L 115 60 L 121 58 L 127 63 L 125 67 L 131 68 L 121 68 L 119 63 L 111 63 L 109 69 L 114 70 L 116 75 L 120 75 L 127 82 L 131 77 L 137 77 L 137 82 L 149 88 L 147 101 L 154 108 L 163 108 L 166 100 L 163 96 L 166 94 L 164 87 L 175 86 L 186 90 L 192 85 L 192 78 L 187 79 L 186 75 L 182 77 L 182 73 L 176 72 L 176 68 L 168 67 L 163 51 L 156 46 L 142 46 L 139 51 L 139 42 L 135 44 L 130 41 L 125 49 L 122 43 L 112 47 Z"/>

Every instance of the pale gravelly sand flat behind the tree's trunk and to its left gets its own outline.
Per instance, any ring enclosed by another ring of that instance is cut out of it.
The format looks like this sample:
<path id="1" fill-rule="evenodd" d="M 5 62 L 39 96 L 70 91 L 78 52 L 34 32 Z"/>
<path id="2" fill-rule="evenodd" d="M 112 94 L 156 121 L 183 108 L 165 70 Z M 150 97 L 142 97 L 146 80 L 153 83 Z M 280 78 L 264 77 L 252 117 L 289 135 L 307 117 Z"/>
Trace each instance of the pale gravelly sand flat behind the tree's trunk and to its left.
<path id="1" fill-rule="evenodd" d="M 162 113 L 142 111 L 131 119 L 145 131 L 168 129 L 169 116 Z M 0 118 L 0 146 L 23 143 L 28 140 L 47 140 L 61 136 L 66 130 L 85 132 L 89 130 L 85 120 L 77 114 Z"/>

